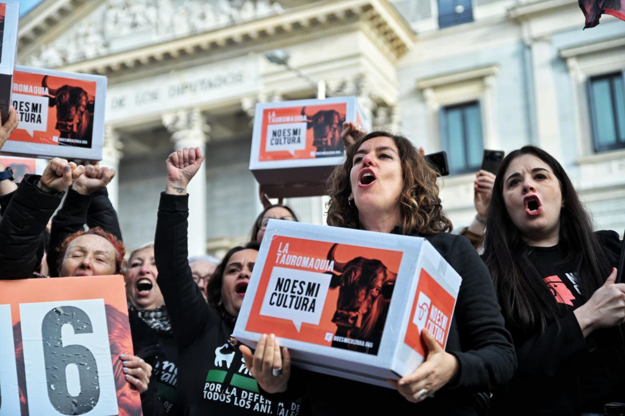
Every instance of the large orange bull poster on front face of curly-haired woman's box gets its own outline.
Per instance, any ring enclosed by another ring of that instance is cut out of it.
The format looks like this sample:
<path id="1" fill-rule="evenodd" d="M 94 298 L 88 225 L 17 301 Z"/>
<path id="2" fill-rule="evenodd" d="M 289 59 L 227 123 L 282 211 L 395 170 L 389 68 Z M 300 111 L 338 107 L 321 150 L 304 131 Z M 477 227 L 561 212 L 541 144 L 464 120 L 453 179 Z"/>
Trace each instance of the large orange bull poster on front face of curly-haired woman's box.
<path id="1" fill-rule="evenodd" d="M 246 330 L 377 354 L 402 252 L 276 235 Z"/>

